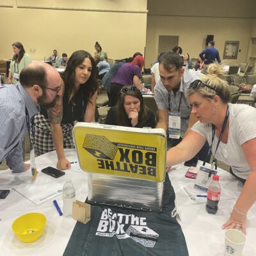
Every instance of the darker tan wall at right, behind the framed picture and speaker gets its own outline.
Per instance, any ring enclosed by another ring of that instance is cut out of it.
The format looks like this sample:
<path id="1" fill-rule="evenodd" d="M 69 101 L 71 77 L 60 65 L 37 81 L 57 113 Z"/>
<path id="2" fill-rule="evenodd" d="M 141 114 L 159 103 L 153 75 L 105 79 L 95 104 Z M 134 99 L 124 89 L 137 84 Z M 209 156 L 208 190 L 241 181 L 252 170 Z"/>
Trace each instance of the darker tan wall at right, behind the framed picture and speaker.
<path id="1" fill-rule="evenodd" d="M 207 35 L 214 35 L 215 47 L 220 51 L 221 60 L 225 41 L 239 41 L 241 52 L 238 52 L 237 60 L 232 62 L 246 61 L 252 21 L 253 19 L 148 15 L 145 66 L 150 67 L 150 63 L 157 60 L 159 35 L 179 36 L 183 53 L 188 52 L 191 58 L 197 58 L 204 49 Z"/>

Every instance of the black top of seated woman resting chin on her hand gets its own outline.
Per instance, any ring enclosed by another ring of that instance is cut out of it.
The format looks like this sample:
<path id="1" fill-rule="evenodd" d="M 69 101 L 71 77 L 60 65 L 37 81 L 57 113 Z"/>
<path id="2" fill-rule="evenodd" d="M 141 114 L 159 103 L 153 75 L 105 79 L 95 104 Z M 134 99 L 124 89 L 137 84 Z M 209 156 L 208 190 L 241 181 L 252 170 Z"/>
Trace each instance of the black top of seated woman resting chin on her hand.
<path id="1" fill-rule="evenodd" d="M 125 125 L 122 125 L 122 126 L 132 127 L 131 119 L 129 119 L 128 116 L 125 116 L 125 117 L 126 117 Z M 120 125 L 117 123 L 117 105 L 113 106 L 112 108 L 109 109 L 105 124 Z M 135 127 L 137 127 L 137 128 L 142 128 L 142 127 L 155 128 L 156 127 L 156 119 L 155 119 L 154 112 L 151 111 L 150 109 L 147 109 L 147 116 L 145 118 L 145 121 L 143 122 L 142 125 L 138 126 L 138 124 L 137 124 Z"/>

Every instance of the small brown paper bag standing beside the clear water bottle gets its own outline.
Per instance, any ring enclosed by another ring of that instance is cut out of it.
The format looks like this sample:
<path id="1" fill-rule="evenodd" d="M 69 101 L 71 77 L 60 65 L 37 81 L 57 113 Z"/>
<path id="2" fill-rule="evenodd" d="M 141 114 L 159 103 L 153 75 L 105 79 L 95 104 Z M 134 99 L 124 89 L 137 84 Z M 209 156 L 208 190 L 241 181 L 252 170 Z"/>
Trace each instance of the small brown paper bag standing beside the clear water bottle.
<path id="1" fill-rule="evenodd" d="M 73 202 L 72 218 L 86 224 L 91 219 L 91 205 L 78 200 Z"/>

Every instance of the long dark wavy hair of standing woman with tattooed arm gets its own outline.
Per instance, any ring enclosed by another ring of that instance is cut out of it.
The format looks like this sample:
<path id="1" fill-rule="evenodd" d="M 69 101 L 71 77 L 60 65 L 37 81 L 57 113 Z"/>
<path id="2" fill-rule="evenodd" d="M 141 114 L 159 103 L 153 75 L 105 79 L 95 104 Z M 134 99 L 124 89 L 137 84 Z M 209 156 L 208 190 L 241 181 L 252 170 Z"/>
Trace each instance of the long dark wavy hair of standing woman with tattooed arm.
<path id="1" fill-rule="evenodd" d="M 89 58 L 92 63 L 92 73 L 90 78 L 88 79 L 88 81 L 86 81 L 86 83 L 81 84 L 82 86 L 84 86 L 84 93 L 86 99 L 90 101 L 90 98 L 98 89 L 97 67 L 92 55 L 89 52 L 83 50 L 73 52 L 68 59 L 65 71 L 63 72 L 63 74 L 61 74 L 61 78 L 65 83 L 65 90 L 68 90 L 68 102 L 72 102 L 72 104 L 75 104 L 74 95 L 76 95 L 76 87 L 74 85 L 76 78 L 75 70 L 78 65 L 83 63 L 84 58 Z"/>

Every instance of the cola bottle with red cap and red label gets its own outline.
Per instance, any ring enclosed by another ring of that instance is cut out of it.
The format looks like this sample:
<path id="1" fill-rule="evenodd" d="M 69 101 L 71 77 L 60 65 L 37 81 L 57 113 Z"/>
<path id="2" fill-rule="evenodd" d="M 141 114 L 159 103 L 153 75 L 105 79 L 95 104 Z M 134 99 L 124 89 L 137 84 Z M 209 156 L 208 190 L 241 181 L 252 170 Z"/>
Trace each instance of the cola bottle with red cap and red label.
<path id="1" fill-rule="evenodd" d="M 219 179 L 220 177 L 218 175 L 213 175 L 212 182 L 209 184 L 207 191 L 207 203 L 205 205 L 208 213 L 216 214 L 218 211 L 221 191 Z"/>

